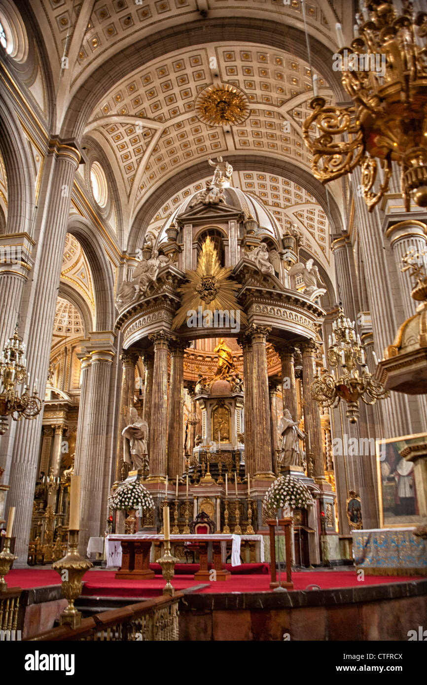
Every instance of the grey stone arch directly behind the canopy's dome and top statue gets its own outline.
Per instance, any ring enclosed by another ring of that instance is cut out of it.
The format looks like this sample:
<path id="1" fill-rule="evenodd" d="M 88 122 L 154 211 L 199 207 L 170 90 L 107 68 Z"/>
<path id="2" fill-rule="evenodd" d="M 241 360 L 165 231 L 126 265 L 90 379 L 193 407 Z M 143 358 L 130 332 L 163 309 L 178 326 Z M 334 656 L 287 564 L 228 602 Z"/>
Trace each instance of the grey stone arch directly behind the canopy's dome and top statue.
<path id="1" fill-rule="evenodd" d="M 315 199 L 321 204 L 321 207 L 326 212 L 326 216 L 330 221 L 331 233 L 340 233 L 343 230 L 343 222 L 341 219 L 341 212 L 337 202 L 334 200 L 332 195 L 329 194 L 329 207 L 328 210 L 328 198 L 326 197 L 326 188 L 318 181 L 308 169 L 302 169 L 300 166 L 293 164 L 292 162 L 286 162 L 286 167 L 284 167 L 283 160 L 277 160 L 272 157 L 267 157 L 265 155 L 227 155 L 227 161 L 232 164 L 235 171 L 245 171 L 245 169 L 256 169 L 256 171 L 265 171 L 267 173 L 273 173 L 276 175 L 283 176 L 286 175 L 290 181 L 294 181 L 300 186 L 304 186 L 308 192 L 310 192 Z M 156 216 L 158 210 L 164 205 L 164 203 L 169 200 L 173 193 L 177 192 L 180 188 L 185 188 L 188 184 L 196 182 L 200 178 L 206 176 L 206 161 L 197 162 L 193 166 L 188 166 L 186 169 L 182 169 L 179 173 L 175 174 L 173 177 L 167 179 L 162 184 L 161 188 L 157 192 L 154 192 L 143 205 L 139 208 L 132 227 L 130 229 L 129 238 L 127 241 L 127 252 L 132 254 L 136 251 L 139 245 L 142 245 L 143 237 L 145 231 L 149 226 L 149 223 Z M 337 228 L 336 228 L 337 227 Z"/>

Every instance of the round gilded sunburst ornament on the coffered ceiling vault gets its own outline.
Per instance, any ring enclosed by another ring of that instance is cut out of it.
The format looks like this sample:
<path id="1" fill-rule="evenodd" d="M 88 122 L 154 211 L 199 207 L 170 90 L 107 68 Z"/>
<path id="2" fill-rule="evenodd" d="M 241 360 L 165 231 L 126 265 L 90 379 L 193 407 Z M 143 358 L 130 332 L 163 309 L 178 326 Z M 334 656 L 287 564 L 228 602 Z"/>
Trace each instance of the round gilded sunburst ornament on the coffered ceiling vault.
<path id="1" fill-rule="evenodd" d="M 214 84 L 197 95 L 194 109 L 198 119 L 208 126 L 241 124 L 249 116 L 249 100 L 237 86 Z"/>

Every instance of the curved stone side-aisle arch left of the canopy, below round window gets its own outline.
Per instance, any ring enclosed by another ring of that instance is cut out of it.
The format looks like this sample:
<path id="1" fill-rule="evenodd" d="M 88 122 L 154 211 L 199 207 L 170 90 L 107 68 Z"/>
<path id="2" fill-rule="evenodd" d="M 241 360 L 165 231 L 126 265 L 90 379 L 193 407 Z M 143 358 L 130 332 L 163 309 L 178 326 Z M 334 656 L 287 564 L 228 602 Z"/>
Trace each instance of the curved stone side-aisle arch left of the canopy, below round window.
<path id="1" fill-rule="evenodd" d="M 80 242 L 90 265 L 95 290 L 94 330 L 112 330 L 114 327 L 114 278 L 103 246 L 95 234 L 93 225 L 83 216 L 70 216 L 67 232 Z"/>

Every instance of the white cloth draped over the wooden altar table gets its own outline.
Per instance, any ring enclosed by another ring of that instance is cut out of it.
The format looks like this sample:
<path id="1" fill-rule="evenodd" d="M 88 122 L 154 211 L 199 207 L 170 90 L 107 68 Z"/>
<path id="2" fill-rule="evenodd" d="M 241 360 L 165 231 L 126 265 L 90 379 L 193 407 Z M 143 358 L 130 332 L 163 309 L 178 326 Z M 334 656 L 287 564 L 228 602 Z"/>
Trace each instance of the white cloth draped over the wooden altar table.
<path id="1" fill-rule="evenodd" d="M 164 535 L 136 533 L 134 535 L 117 535 L 111 534 L 106 537 L 106 552 L 107 552 L 107 567 L 121 566 L 121 543 L 120 540 L 164 540 Z M 219 541 L 221 544 L 221 551 L 223 562 L 225 561 L 225 543 L 227 540 L 232 540 L 231 549 L 231 565 L 240 565 L 240 543 L 241 540 L 253 540 L 260 543 L 260 560 L 264 561 L 264 537 L 262 535 L 223 535 L 221 533 L 209 535 L 171 535 L 171 542 L 209 542 Z"/>

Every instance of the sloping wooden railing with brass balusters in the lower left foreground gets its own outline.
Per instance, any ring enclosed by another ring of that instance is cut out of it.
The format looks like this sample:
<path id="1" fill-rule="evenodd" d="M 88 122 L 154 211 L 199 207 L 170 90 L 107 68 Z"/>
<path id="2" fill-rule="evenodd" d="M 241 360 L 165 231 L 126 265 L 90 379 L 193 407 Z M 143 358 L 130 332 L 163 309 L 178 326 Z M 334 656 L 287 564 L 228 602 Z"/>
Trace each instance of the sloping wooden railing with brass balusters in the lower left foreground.
<path id="1" fill-rule="evenodd" d="M 60 625 L 26 640 L 105 640 L 175 641 L 178 640 L 178 604 L 183 597 L 154 597 L 121 609 L 103 611 L 82 620 L 73 630 Z"/>

